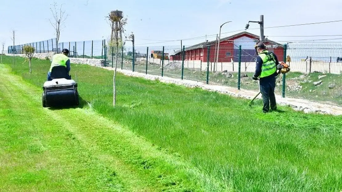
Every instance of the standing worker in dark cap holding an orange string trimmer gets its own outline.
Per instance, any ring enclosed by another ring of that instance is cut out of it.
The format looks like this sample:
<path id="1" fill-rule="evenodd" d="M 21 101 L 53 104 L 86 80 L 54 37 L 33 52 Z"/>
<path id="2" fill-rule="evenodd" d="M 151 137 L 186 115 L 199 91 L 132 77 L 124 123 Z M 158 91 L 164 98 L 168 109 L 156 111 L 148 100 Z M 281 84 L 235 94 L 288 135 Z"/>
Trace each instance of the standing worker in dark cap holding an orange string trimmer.
<path id="1" fill-rule="evenodd" d="M 290 71 L 290 68 L 284 62 L 279 64 L 277 56 L 271 52 L 266 50 L 266 45 L 264 43 L 258 43 L 255 45 L 255 50 L 257 51 L 256 58 L 256 67 L 255 73 L 252 77 L 254 80 L 259 80 L 260 84 L 260 92 L 262 94 L 263 101 L 263 113 L 268 113 L 271 107 L 272 111 L 277 110 L 277 103 L 274 94 L 274 90 L 276 87 L 276 78 L 280 73 L 287 73 Z M 279 70 L 277 72 L 277 70 Z M 255 96 L 258 97 L 258 95 Z M 253 98 L 253 100 L 255 99 Z M 253 102 L 250 101 L 249 105 Z"/>

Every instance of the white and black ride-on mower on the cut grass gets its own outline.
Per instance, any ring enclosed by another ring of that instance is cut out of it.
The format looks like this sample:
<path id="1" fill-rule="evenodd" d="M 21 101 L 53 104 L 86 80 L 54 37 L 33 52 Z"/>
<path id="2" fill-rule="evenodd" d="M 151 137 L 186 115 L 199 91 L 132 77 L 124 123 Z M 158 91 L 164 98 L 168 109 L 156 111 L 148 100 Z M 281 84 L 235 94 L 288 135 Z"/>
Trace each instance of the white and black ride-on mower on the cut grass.
<path id="1" fill-rule="evenodd" d="M 64 66 L 53 67 L 51 79 L 43 85 L 43 107 L 79 105 L 77 83 L 69 78 Z"/>

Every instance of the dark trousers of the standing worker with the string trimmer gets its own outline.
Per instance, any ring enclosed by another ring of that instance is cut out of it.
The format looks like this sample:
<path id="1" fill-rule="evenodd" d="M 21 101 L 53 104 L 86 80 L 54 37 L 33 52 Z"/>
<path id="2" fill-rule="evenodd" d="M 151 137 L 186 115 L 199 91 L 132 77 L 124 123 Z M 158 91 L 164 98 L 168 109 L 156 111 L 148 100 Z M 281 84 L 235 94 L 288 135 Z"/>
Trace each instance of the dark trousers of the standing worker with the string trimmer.
<path id="1" fill-rule="evenodd" d="M 276 87 L 276 77 L 265 77 L 260 79 L 260 91 L 262 94 L 262 101 L 264 106 L 262 108 L 264 113 L 269 112 L 269 107 L 271 110 L 277 109 L 276 98 L 274 95 L 274 90 Z"/>

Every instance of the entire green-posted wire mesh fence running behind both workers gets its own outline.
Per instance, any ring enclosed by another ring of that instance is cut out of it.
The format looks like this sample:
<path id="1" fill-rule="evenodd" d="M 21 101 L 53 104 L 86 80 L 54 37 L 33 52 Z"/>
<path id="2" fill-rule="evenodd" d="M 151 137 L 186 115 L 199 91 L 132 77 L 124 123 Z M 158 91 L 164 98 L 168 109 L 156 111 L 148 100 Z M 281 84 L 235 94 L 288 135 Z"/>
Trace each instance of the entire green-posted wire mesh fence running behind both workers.
<path id="1" fill-rule="evenodd" d="M 255 41 L 225 41 L 218 46 L 205 42 L 193 46 L 123 46 L 116 50 L 106 40 L 62 42 L 55 39 L 28 43 L 36 53 L 69 49 L 71 58 L 102 59 L 107 67 L 145 74 L 188 79 L 197 82 L 259 91 L 255 72 Z M 342 106 L 342 43 L 266 44 L 278 61 L 291 71 L 276 80 L 277 94 L 324 104 Z M 22 45 L 8 53 L 20 53 Z M 134 50 L 133 50 L 134 47 Z"/>

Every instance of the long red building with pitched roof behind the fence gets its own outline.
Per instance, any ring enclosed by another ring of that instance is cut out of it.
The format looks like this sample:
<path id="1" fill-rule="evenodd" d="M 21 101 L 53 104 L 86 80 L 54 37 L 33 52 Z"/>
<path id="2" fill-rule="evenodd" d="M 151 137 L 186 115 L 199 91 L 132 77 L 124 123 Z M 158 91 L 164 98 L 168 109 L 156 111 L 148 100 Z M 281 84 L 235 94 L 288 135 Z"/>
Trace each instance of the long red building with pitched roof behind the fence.
<path id="1" fill-rule="evenodd" d="M 231 62 L 239 60 L 239 46 L 241 45 L 242 54 L 241 62 L 254 62 L 257 57 L 254 45 L 259 42 L 259 36 L 248 32 L 241 32 L 232 36 L 228 36 L 220 40 L 220 50 L 218 62 Z M 265 39 L 265 45 L 269 51 L 273 51 L 279 62 L 284 60 L 283 45 Z M 203 42 L 185 48 L 185 60 L 201 60 L 207 62 L 209 49 L 209 62 L 214 62 L 216 58 L 217 42 Z M 170 56 L 170 60 L 182 60 L 182 50 L 177 50 Z"/>

